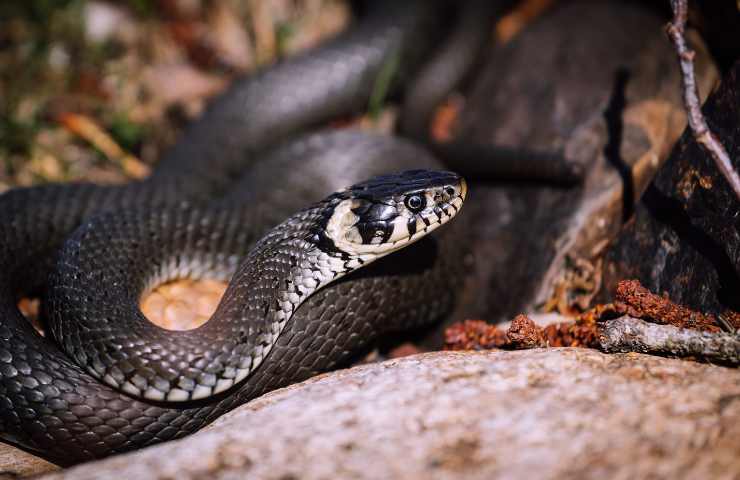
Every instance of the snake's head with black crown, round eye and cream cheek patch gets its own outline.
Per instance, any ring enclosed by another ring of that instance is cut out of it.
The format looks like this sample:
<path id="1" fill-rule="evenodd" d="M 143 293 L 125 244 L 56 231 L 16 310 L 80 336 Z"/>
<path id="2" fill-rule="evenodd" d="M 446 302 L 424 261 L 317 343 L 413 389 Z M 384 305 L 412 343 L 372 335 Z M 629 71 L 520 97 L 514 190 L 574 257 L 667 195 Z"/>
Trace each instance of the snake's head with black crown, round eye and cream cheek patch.
<path id="1" fill-rule="evenodd" d="M 340 192 L 324 234 L 352 256 L 394 252 L 451 220 L 467 193 L 453 172 L 409 170 L 375 177 Z"/>

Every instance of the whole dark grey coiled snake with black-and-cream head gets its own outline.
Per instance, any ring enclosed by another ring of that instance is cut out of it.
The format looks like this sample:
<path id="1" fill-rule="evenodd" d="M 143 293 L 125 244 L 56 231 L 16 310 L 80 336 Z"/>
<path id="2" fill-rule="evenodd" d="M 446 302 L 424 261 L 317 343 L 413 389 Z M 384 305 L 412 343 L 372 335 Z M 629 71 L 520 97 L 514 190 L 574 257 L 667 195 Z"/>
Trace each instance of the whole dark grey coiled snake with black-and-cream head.
<path id="1" fill-rule="evenodd" d="M 0 438 L 62 465 L 181 438 L 449 311 L 464 222 L 429 234 L 465 180 L 416 143 L 317 128 L 389 62 L 400 90 L 450 8 L 370 2 L 234 82 L 144 180 L 0 195 Z M 229 285 L 206 324 L 166 331 L 139 299 L 183 277 Z M 36 294 L 45 336 L 17 307 Z"/>

